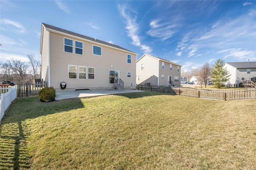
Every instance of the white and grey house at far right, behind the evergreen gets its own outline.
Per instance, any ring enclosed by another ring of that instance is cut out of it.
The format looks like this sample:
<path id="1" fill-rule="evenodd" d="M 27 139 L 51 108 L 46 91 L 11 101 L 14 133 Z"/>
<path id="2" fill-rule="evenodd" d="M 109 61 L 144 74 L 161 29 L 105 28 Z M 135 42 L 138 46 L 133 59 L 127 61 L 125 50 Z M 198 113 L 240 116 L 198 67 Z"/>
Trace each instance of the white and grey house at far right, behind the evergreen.
<path id="1" fill-rule="evenodd" d="M 228 87 L 238 87 L 246 80 L 256 82 L 256 61 L 228 62 L 224 67 L 230 72 L 230 79 L 226 82 Z"/>

